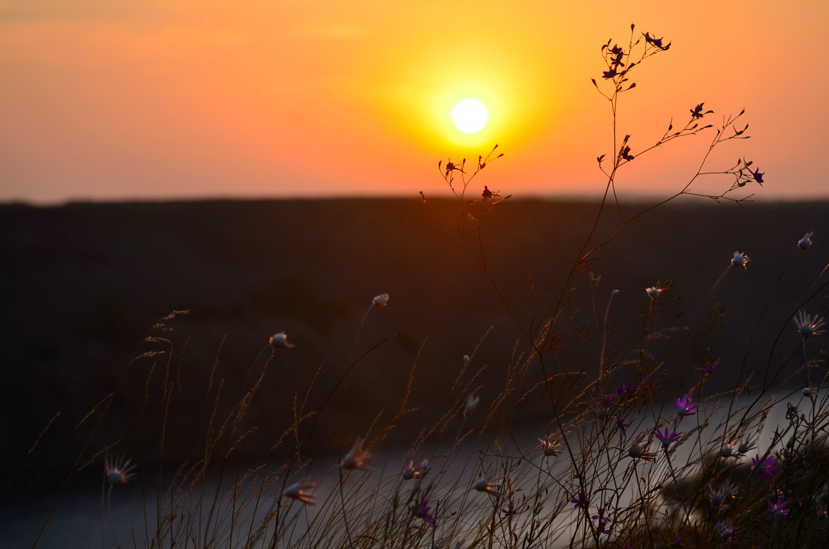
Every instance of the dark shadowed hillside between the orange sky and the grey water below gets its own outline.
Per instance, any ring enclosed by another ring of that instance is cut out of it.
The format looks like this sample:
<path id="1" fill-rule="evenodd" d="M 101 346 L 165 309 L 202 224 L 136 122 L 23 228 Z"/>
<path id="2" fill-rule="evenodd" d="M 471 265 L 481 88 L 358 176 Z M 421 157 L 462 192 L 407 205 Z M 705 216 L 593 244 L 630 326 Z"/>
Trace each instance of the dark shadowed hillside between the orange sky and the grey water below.
<path id="1" fill-rule="evenodd" d="M 250 441 L 253 453 L 257 445 L 267 448 L 269 437 L 288 425 L 294 392 L 304 395 L 320 364 L 312 405 L 327 394 L 342 374 L 362 314 L 372 297 L 384 292 L 390 304 L 371 313 L 357 352 L 400 334 L 355 367 L 337 391 L 335 406 L 319 420 L 327 435 L 308 445 L 340 448 L 368 429 L 379 411 L 393 415 L 426 338 L 412 396 L 418 414 L 434 418 L 453 405 L 446 394 L 432 390 L 434 380 L 448 377 L 437 384 L 448 385 L 463 354 L 472 352 L 490 326 L 473 367 L 487 365 L 480 394 L 492 398 L 520 333 L 458 234 L 435 215 L 453 219 L 456 205 L 430 203 L 427 207 L 413 198 L 0 206 L 5 378 L 0 430 L 8 441 L 0 466 L 15 468 L 46 422 L 61 411 L 59 428 L 47 434 L 31 459 L 41 464 L 61 433 L 113 390 L 148 328 L 172 309 L 191 310 L 170 323 L 177 345 L 174 367 L 189 336 L 182 360 L 185 381 L 172 405 L 177 421 L 165 453 L 172 461 L 190 457 L 191 445 L 183 441 L 200 428 L 207 377 L 223 336 L 216 372 L 226 380 L 228 398 L 244 392 L 245 372 L 272 333 L 285 330 L 296 345 L 277 353 L 257 396 L 251 423 L 260 429 L 259 438 Z M 637 207 L 625 206 L 627 211 Z M 563 279 L 596 209 L 589 202 L 512 199 L 487 219 L 484 246 L 492 271 L 511 303 L 518 304 L 522 322 L 529 323 L 539 310 L 528 284 L 542 291 L 545 282 Z M 729 325 L 689 347 L 677 369 L 693 372 L 707 345 L 722 357 L 717 375 L 728 386 L 775 279 L 796 252 L 797 240 L 815 231 L 816 245 L 797 256 L 774 294 L 750 366 L 762 371 L 781 327 L 792 328 L 785 338 L 796 338 L 788 315 L 829 261 L 822 245 L 829 239 L 827 214 L 826 202 L 745 208 L 685 202 L 657 209 L 596 254 L 594 273 L 603 278 L 592 296 L 586 275 L 578 279 L 577 301 L 570 304 L 572 326 L 594 327 L 594 309 L 604 313 L 613 289 L 619 294 L 611 318 L 641 313 L 647 305 L 644 289 L 660 275 L 674 283 L 662 302 L 681 299 L 653 322 L 686 325 L 730 265 L 732 252 L 744 251 L 751 257 L 748 270 L 728 273 L 711 298 L 728 308 Z M 617 215 L 608 209 L 600 234 L 610 234 Z M 560 286 L 551 288 L 555 303 Z M 703 306 L 704 313 L 708 309 Z M 630 337 L 618 333 L 614 350 L 628 346 Z M 140 348 L 145 347 L 150 348 Z M 623 357 L 630 357 L 635 345 L 628 347 Z M 519 348 L 526 345 L 521 342 Z M 595 357 L 589 344 L 577 364 L 590 372 Z M 255 371 L 262 363 L 264 358 Z M 155 431 L 147 427 L 153 417 L 141 419 L 151 364 L 145 360 L 130 367 L 99 428 L 97 448 L 122 439 L 122 448 L 139 462 L 157 452 Z M 164 364 L 160 360 L 153 374 L 148 410 L 158 408 L 153 405 L 160 399 Z M 540 376 L 533 368 L 530 372 Z M 549 420 L 540 395 L 529 410 L 517 418 L 525 425 Z M 408 426 L 419 428 L 417 414 Z M 147 433 L 146 440 L 141 433 Z M 52 464 L 67 465 L 76 450 L 66 448 Z"/>

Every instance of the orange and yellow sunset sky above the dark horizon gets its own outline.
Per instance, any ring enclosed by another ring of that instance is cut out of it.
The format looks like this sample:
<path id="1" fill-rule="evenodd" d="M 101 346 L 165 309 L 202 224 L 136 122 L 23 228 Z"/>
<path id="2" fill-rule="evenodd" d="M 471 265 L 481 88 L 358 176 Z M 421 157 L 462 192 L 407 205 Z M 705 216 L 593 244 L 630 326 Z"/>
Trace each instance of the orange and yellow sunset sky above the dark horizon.
<path id="1" fill-rule="evenodd" d="M 506 156 L 481 184 L 519 196 L 604 188 L 599 47 L 629 24 L 644 64 L 619 129 L 633 151 L 688 117 L 746 109 L 759 198 L 826 197 L 825 2 L 0 0 L 0 201 L 446 195 L 440 158 Z M 489 109 L 479 134 L 458 100 Z M 707 138 L 637 158 L 623 196 L 666 194 Z M 725 184 L 725 183 L 723 183 Z"/>

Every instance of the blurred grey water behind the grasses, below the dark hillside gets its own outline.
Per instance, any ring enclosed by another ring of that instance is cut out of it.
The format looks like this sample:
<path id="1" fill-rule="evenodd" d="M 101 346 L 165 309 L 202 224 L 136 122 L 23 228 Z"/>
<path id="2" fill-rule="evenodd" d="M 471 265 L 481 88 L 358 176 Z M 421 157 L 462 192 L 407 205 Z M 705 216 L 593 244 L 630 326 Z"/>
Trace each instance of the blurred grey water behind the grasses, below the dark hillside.
<path id="1" fill-rule="evenodd" d="M 754 435 L 754 441 L 758 444 L 758 449 L 745 455 L 742 458 L 744 462 L 750 463 L 750 458 L 757 452 L 763 454 L 778 425 L 781 430 L 788 425 L 788 420 L 785 419 L 786 401 L 800 406 L 802 411 L 807 410 L 808 401 L 801 398 L 799 391 L 793 396 L 789 396 L 788 399 L 780 401 L 768 415 L 764 429 L 759 435 Z M 739 405 L 743 406 L 747 402 L 741 400 Z M 671 406 L 668 406 L 664 413 L 666 417 L 671 416 Z M 717 440 L 721 435 L 721 431 L 715 431 L 714 425 L 718 425 L 724 415 L 725 411 L 718 411 L 709 416 L 710 426 L 702 431 L 702 440 Z M 697 425 L 699 418 L 701 418 L 701 415 L 686 417 L 677 427 L 677 430 L 680 432 L 691 430 Z M 647 424 L 647 421 L 645 424 Z M 536 432 L 527 432 L 516 435 L 515 441 L 502 439 L 499 442 L 502 455 L 517 457 L 519 453 L 522 453 L 530 456 L 530 459 L 524 460 L 520 479 L 516 479 L 516 484 L 513 486 L 513 488 L 523 488 L 524 493 L 527 494 L 531 493 L 533 483 L 536 482 L 534 472 L 538 471 L 540 467 L 549 471 L 552 477 L 564 475 L 568 470 L 564 455 L 556 459 L 555 465 L 550 467 L 550 461 L 543 459 L 540 452 L 533 449 L 537 445 L 536 436 L 538 436 Z M 465 532 L 467 531 L 465 529 L 474 527 L 474 522 L 482 520 L 482 517 L 487 517 L 489 513 L 492 513 L 491 496 L 471 489 L 473 484 L 481 478 L 481 474 L 485 469 L 495 474 L 496 479 L 502 476 L 502 472 L 496 469 L 499 459 L 492 455 L 483 455 L 478 451 L 482 449 L 487 454 L 493 452 L 493 440 L 490 440 L 490 443 L 487 448 L 487 443 L 484 440 L 465 442 L 454 449 L 449 458 L 445 457 L 449 449 L 448 446 L 441 446 L 430 451 L 424 449 L 424 454 L 420 455 L 407 455 L 401 451 L 386 452 L 383 450 L 381 457 L 374 456 L 371 460 L 371 471 L 356 470 L 347 475 L 343 483 L 342 495 L 339 489 L 340 469 L 337 468 L 337 459 L 318 459 L 310 469 L 310 478 L 318 482 L 318 488 L 316 489 L 318 504 L 309 507 L 301 503 L 293 503 L 290 508 L 284 509 L 280 513 L 279 521 L 283 524 L 285 534 L 284 538 L 280 539 L 279 545 L 285 547 L 301 542 L 309 525 L 317 531 L 331 528 L 330 535 L 342 539 L 343 536 L 348 534 L 341 532 L 337 527 L 330 526 L 339 522 L 342 516 L 337 513 L 342 511 L 342 506 L 345 506 L 349 516 L 353 517 L 363 517 L 366 513 L 370 515 L 372 509 L 376 508 L 382 509 L 382 512 L 385 513 L 389 508 L 388 501 L 372 499 L 371 494 L 382 494 L 383 498 L 390 498 L 390 494 L 400 493 L 400 513 L 408 516 L 405 500 L 411 493 L 414 481 L 405 483 L 400 479 L 400 469 L 405 459 L 419 459 L 423 455 L 436 457 L 431 459 L 429 464 L 430 473 L 422 481 L 421 489 L 427 489 L 429 483 L 434 482 L 433 500 L 448 501 L 450 505 L 463 507 L 463 514 L 467 515 L 464 518 L 466 523 L 454 524 L 453 532 Z M 577 442 L 573 441 L 573 444 L 577 445 Z M 713 442 L 711 447 L 716 447 L 718 444 Z M 652 445 L 651 449 L 655 449 L 655 445 Z M 689 456 L 692 457 L 692 453 L 698 451 L 699 448 L 691 445 L 689 441 L 689 443 L 679 447 L 671 460 L 674 464 L 683 464 Z M 602 469 L 606 465 L 607 462 L 599 463 L 598 468 Z M 245 539 L 249 532 L 255 532 L 255 527 L 250 527 L 251 522 L 258 522 L 275 508 L 275 502 L 284 487 L 283 481 L 280 477 L 277 482 L 266 481 L 263 483 L 262 476 L 266 472 L 274 471 L 277 467 L 276 464 L 269 464 L 269 466 L 264 467 L 259 471 L 259 476 L 256 479 L 246 484 L 247 488 L 241 489 L 237 493 L 237 502 L 244 501 L 245 504 L 236 506 L 235 516 L 234 513 L 230 512 L 232 507 L 230 494 L 235 483 L 235 478 L 230 477 L 235 475 L 235 470 L 229 472 L 222 480 L 219 492 L 224 495 L 218 503 L 218 511 L 210 518 L 211 531 L 220 534 L 222 540 L 219 543 L 220 547 L 225 547 L 230 537 L 231 517 L 238 525 L 238 531 L 234 533 L 234 538 L 237 540 Z M 623 469 L 620 468 L 619 470 Z M 244 474 L 245 470 L 244 468 L 241 469 L 241 473 Z M 298 480 L 295 473 L 294 471 L 294 476 L 290 480 L 291 483 Z M 162 493 L 164 496 L 161 503 L 164 513 L 168 513 L 170 510 L 169 496 L 166 493 L 166 487 L 170 480 L 170 474 L 163 475 Z M 562 478 L 562 482 L 565 484 L 568 480 L 571 481 L 572 479 Z M 41 484 L 46 485 L 47 488 L 57 488 L 61 482 L 61 479 L 42 479 Z M 152 474 L 144 473 L 133 483 L 114 486 L 111 496 L 112 522 L 110 525 L 105 493 L 102 496 L 102 489 L 105 490 L 105 487 L 102 486 L 101 477 L 98 474 L 85 472 L 84 475 L 73 479 L 67 486 L 65 493 L 62 494 L 56 505 L 55 512 L 49 517 L 48 524 L 42 534 L 40 533 L 41 527 L 46 523 L 46 518 L 49 516 L 51 505 L 54 502 L 54 494 L 48 491 L 30 493 L 22 499 L 19 507 L 15 508 L 21 494 L 7 493 L 0 502 L 0 544 L 2 544 L 2 547 L 11 548 L 32 547 L 32 544 L 40 535 L 37 547 L 148 547 L 149 541 L 153 539 L 157 528 L 157 482 L 158 479 L 154 478 Z M 189 517 L 191 522 L 200 525 L 197 530 L 192 532 L 195 542 L 191 543 L 195 543 L 196 547 L 201 547 L 205 539 L 204 530 L 206 529 L 209 509 L 216 494 L 216 488 L 219 488 L 216 480 L 208 484 L 206 490 L 204 490 L 204 496 L 201 498 L 201 514 L 198 514 L 197 517 Z M 258 499 L 256 494 L 259 494 Z M 623 494 L 623 500 L 628 497 L 635 497 L 633 487 L 627 488 L 627 492 Z M 198 513 L 196 505 L 198 499 L 196 493 L 188 498 L 182 498 L 182 504 L 177 508 L 177 518 L 172 521 L 174 528 L 181 528 L 185 522 L 180 516 L 182 511 L 184 513 Z M 287 501 L 286 499 L 283 500 Z M 434 506 L 432 511 L 434 512 Z M 591 512 L 593 511 L 591 508 Z M 542 515 L 551 512 L 552 509 L 548 506 Z M 568 506 L 565 512 L 559 513 L 555 517 L 555 528 L 559 528 L 560 532 L 563 532 L 565 541 L 569 541 L 570 528 L 574 522 L 573 513 L 578 512 L 572 511 Z M 439 534 L 443 534 L 448 529 L 448 516 L 444 513 L 443 517 L 446 522 L 439 525 Z M 376 520 L 378 517 L 372 518 Z M 342 524 L 342 522 L 339 523 Z M 416 524 L 422 526 L 419 522 Z M 255 547 L 267 547 L 268 543 L 265 543 L 265 540 L 270 540 L 272 530 L 260 533 L 262 536 L 259 537 L 259 544 Z M 116 539 L 118 545 L 116 545 Z M 168 543 L 168 535 L 165 536 L 165 539 Z"/>

